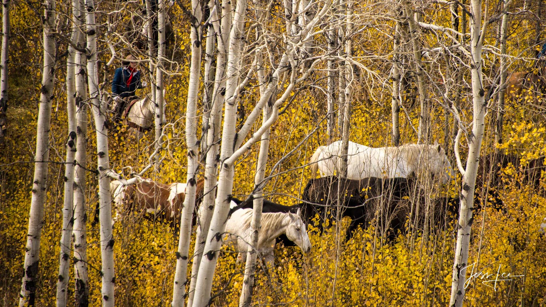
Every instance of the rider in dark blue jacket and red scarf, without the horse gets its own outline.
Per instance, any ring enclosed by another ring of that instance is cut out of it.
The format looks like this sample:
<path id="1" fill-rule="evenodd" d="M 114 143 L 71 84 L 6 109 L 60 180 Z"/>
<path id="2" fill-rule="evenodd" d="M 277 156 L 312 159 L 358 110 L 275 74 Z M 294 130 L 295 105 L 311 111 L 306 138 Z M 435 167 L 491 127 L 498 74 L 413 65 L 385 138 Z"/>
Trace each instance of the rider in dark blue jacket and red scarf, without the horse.
<path id="1" fill-rule="evenodd" d="M 112 80 L 112 96 L 116 103 L 114 120 L 116 121 L 121 119 L 127 102 L 138 99 L 135 96 L 135 91 L 147 86 L 147 82 L 140 79 L 138 62 L 133 55 L 127 56 L 126 60 L 122 61 L 122 65 L 116 69 Z"/>

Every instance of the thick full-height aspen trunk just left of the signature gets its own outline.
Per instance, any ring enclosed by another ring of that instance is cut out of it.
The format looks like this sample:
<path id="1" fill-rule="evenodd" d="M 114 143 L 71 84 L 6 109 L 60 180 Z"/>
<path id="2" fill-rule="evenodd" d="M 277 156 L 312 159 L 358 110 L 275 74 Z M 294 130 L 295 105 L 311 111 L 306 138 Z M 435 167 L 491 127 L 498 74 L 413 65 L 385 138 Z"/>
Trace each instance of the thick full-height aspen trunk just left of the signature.
<path id="1" fill-rule="evenodd" d="M 470 46 L 472 60 L 470 63 L 472 74 L 472 103 L 473 125 L 472 134 L 468 136 L 468 158 L 466 169 L 462 176 L 462 190 L 460 196 L 459 223 L 457 232 L 457 244 L 455 246 L 455 259 L 453 263 L 453 281 L 451 288 L 450 306 L 462 306 L 465 297 L 466 266 L 468 265 L 468 247 L 470 245 L 470 233 L 472 229 L 472 207 L 474 203 L 474 187 L 478 172 L 479 153 L 482 147 L 482 139 L 485 127 L 485 90 L 482 80 L 482 45 L 483 33 L 485 33 L 487 21 L 483 30 L 482 1 L 471 1 L 470 15 Z M 458 146 L 458 144 L 455 144 Z"/>

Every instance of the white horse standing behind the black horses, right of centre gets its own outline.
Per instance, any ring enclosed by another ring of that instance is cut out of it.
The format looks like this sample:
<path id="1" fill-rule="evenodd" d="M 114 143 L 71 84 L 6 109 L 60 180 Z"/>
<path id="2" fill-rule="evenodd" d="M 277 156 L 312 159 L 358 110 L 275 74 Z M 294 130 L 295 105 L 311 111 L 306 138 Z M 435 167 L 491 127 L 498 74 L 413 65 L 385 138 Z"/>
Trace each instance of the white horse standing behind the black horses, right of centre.
<path id="1" fill-rule="evenodd" d="M 455 172 L 440 145 L 407 144 L 372 148 L 349 141 L 347 178 L 408 178 L 412 173 L 430 172 L 446 184 Z M 311 173 L 321 177 L 341 174 L 342 142 L 319 146 L 311 157 Z"/>

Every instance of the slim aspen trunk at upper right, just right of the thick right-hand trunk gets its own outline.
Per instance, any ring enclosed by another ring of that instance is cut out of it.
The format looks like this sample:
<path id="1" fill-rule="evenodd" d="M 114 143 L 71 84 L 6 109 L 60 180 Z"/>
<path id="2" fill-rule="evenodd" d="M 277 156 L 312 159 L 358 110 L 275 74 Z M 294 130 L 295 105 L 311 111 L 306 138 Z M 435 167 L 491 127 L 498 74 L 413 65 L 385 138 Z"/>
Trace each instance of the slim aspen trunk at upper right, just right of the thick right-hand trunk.
<path id="1" fill-rule="evenodd" d="M 501 23 L 501 80 L 500 80 L 500 90 L 498 91 L 498 105 L 497 105 L 497 121 L 495 129 L 495 143 L 502 143 L 502 132 L 504 125 L 504 113 L 505 113 L 505 90 L 506 90 L 506 77 L 507 77 L 507 62 L 508 58 L 506 57 L 506 36 L 508 30 L 508 14 L 510 3 L 506 0 L 503 0 L 504 5 L 504 15 L 502 16 Z"/>

